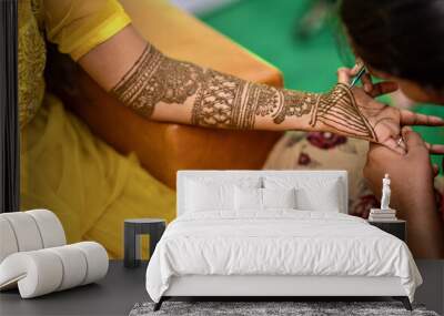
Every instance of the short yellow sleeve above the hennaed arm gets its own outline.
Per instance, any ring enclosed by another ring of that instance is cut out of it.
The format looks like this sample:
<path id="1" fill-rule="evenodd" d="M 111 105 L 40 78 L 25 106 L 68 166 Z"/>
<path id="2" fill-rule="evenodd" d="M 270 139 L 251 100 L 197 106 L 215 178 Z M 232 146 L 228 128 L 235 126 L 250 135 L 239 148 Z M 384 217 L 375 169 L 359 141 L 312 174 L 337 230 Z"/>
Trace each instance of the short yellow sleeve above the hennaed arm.
<path id="1" fill-rule="evenodd" d="M 131 22 L 117 0 L 43 0 L 43 8 L 48 40 L 75 61 Z"/>

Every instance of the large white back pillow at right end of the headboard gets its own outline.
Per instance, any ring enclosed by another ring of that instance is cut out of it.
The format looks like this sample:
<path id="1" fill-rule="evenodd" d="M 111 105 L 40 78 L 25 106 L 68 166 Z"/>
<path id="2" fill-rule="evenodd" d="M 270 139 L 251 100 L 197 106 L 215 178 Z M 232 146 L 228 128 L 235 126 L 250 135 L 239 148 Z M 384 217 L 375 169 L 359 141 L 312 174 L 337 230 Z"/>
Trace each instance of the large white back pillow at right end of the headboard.
<path id="1" fill-rule="evenodd" d="M 266 188 L 296 190 L 296 208 L 301 211 L 340 212 L 343 208 L 341 182 L 337 177 L 266 176 Z"/>

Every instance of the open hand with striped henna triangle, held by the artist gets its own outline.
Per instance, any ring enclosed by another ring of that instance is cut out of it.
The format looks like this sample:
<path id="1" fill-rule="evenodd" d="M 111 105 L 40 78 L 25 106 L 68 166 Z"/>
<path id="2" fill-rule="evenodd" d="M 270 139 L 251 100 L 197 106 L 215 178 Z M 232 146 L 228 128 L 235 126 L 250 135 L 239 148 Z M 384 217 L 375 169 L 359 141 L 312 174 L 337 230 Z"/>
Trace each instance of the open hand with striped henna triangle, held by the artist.
<path id="1" fill-rule="evenodd" d="M 332 132 L 347 134 L 380 143 L 405 154 L 405 143 L 401 129 L 405 125 L 442 126 L 444 120 L 400 110 L 376 101 L 374 98 L 397 90 L 394 82 L 380 82 L 372 84 L 369 77 L 363 78 L 364 88 L 350 88 L 350 80 L 356 74 L 356 68 L 341 68 L 337 70 L 337 85 L 324 94 L 325 106 L 316 116 L 321 122 L 332 129 Z M 322 100 L 320 104 L 322 104 Z M 325 108 L 325 109 L 323 109 Z M 327 118 L 327 119 L 323 119 Z M 426 144 L 432 153 L 443 153 L 440 145 Z"/>

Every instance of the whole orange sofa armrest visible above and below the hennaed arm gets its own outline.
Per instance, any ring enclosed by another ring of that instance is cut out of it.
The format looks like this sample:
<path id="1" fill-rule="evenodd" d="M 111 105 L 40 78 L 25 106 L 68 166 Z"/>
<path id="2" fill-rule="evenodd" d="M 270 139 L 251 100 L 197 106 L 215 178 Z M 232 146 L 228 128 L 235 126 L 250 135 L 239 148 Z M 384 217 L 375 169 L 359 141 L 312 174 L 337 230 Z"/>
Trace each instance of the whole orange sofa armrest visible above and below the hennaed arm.
<path id="1" fill-rule="evenodd" d="M 280 71 L 193 17 L 159 0 L 123 0 L 135 28 L 163 53 L 242 79 L 282 85 Z M 173 35 L 172 35 L 173 34 Z M 74 95 L 59 93 L 102 140 L 134 152 L 158 180 L 175 187 L 178 170 L 261 169 L 280 132 L 210 130 L 139 116 L 77 68 Z"/>

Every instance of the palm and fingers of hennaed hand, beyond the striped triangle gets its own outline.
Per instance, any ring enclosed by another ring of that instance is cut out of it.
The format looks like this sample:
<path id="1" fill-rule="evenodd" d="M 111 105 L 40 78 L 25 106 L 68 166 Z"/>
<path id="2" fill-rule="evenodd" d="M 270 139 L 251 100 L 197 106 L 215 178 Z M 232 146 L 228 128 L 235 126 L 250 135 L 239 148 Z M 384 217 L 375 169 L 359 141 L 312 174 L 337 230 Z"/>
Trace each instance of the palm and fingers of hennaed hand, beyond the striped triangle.
<path id="1" fill-rule="evenodd" d="M 350 79 L 355 74 L 355 69 L 341 68 L 337 70 L 337 81 L 343 84 L 349 84 Z M 366 81 L 365 81 L 366 80 Z M 352 88 L 352 93 L 355 100 L 355 105 L 365 118 L 369 130 L 372 131 L 371 142 L 380 143 L 397 153 L 405 153 L 405 143 L 401 139 L 401 128 L 404 125 L 444 125 L 444 120 L 437 116 L 430 116 L 414 113 L 407 110 L 400 110 L 394 106 L 383 104 L 373 98 L 393 92 L 397 89 L 394 82 L 371 83 L 367 79 L 364 80 L 364 86 Z M 433 152 L 436 147 L 430 146 Z"/>

